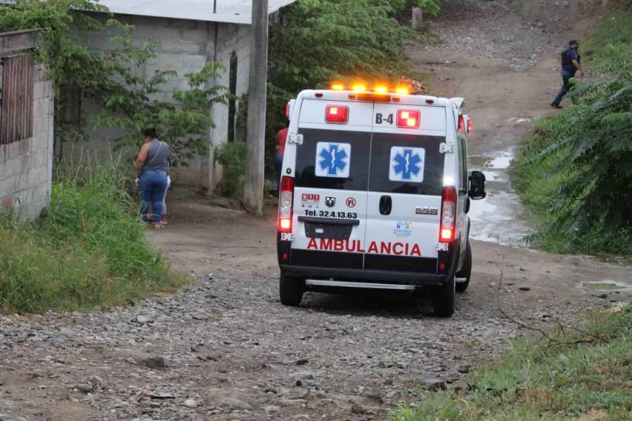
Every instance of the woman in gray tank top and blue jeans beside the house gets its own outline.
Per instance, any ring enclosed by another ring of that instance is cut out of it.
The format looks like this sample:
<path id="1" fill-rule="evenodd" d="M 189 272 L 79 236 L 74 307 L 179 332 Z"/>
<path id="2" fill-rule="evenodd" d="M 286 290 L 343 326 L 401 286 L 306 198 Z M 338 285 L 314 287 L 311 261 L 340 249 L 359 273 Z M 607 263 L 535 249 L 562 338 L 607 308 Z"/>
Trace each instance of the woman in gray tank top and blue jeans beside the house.
<path id="1" fill-rule="evenodd" d="M 163 228 L 160 218 L 164 207 L 169 176 L 169 145 L 158 139 L 154 128 L 145 130 L 145 139 L 136 160 L 136 178 L 140 190 L 140 210 L 143 221 Z M 153 213 L 149 214 L 149 207 Z"/>

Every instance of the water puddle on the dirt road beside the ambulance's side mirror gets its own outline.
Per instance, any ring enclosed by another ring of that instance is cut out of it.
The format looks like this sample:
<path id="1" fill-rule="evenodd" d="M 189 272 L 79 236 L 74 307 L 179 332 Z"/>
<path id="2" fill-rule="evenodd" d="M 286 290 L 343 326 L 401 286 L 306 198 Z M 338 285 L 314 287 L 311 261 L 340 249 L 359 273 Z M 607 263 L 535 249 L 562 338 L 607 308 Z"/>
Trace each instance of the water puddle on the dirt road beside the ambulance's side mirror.
<path id="1" fill-rule="evenodd" d="M 525 246 L 525 236 L 532 234 L 519 219 L 523 205 L 509 183 L 509 166 L 514 150 L 471 156 L 470 171 L 481 171 L 487 179 L 487 197 L 472 200 L 470 238 L 514 247 Z"/>

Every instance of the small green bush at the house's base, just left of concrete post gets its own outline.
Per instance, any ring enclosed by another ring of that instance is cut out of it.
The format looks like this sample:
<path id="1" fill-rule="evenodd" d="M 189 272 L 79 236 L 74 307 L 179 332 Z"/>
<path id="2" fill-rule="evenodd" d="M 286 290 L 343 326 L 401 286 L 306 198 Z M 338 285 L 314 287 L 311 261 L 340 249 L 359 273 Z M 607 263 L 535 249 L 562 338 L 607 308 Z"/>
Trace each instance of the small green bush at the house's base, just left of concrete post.
<path id="1" fill-rule="evenodd" d="M 217 186 L 224 197 L 243 198 L 246 173 L 246 142 L 226 142 L 217 145 L 215 161 L 222 165 L 224 174 Z"/>

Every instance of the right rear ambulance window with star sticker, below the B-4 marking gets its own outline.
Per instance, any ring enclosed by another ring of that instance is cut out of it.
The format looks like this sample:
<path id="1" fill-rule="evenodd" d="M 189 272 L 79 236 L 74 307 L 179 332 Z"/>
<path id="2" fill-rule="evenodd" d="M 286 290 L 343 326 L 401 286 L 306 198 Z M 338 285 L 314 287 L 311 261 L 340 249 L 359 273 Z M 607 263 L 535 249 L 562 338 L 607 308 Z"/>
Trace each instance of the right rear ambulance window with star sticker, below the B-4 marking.
<path id="1" fill-rule="evenodd" d="M 371 192 L 441 196 L 445 137 L 373 133 Z"/>

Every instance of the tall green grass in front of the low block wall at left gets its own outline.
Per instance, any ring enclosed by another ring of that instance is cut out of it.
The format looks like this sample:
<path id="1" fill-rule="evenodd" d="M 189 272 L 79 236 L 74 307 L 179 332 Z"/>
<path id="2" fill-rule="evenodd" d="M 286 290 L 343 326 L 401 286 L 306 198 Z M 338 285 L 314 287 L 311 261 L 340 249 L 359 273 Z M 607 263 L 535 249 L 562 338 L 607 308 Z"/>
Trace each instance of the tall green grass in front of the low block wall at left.
<path id="1" fill-rule="evenodd" d="M 45 216 L 0 218 L 0 311 L 125 305 L 185 278 L 152 250 L 117 162 L 66 168 Z"/>

